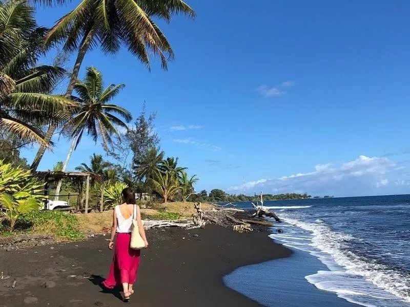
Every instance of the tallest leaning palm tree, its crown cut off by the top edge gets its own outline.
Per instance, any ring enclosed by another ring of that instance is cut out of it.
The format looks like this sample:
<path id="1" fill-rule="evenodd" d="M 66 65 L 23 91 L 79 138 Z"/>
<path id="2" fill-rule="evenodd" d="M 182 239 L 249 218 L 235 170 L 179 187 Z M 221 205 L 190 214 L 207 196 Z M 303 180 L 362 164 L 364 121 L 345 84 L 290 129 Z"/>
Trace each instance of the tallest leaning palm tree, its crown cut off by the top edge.
<path id="1" fill-rule="evenodd" d="M 36 1 L 46 5 L 54 2 Z M 105 53 L 114 54 L 124 45 L 148 69 L 151 53 L 160 58 L 161 67 L 166 70 L 168 60 L 174 57 L 174 52 L 153 18 L 170 22 L 175 14 L 195 17 L 192 8 L 182 0 L 82 0 L 74 10 L 57 21 L 46 37 L 48 46 L 63 42 L 64 51 L 77 52 L 65 96 L 71 96 L 83 59 L 95 46 L 99 46 Z M 48 140 L 55 129 L 56 125 L 51 124 L 46 134 Z M 34 170 L 45 150 L 45 146 L 38 149 L 31 166 Z"/>

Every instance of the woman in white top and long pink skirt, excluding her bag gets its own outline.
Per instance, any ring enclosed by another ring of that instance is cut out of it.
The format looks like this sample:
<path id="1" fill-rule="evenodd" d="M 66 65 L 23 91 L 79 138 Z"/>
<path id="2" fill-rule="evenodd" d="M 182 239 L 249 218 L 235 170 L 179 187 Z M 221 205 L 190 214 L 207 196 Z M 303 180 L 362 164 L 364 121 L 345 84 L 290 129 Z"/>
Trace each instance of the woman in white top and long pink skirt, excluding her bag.
<path id="1" fill-rule="evenodd" d="M 148 246 L 147 237 L 145 235 L 144 226 L 141 223 L 141 213 L 139 207 L 135 205 L 135 193 L 131 188 L 122 190 L 122 204 L 114 208 L 111 238 L 108 248 L 114 246 L 114 256 L 110 267 L 110 273 L 103 286 L 108 289 L 114 289 L 122 286 L 124 291 L 124 301 L 129 301 L 130 296 L 134 293 L 132 289 L 136 280 L 140 251 L 130 248 L 132 220 L 136 217 L 138 223 L 139 234 L 145 242 L 145 247 Z"/>

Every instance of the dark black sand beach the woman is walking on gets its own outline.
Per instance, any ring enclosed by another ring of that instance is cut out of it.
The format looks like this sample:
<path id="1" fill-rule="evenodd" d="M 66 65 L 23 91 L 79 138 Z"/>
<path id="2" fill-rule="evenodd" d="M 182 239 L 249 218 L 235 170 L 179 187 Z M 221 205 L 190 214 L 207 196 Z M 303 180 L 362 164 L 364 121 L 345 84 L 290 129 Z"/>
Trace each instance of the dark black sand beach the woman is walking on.
<path id="1" fill-rule="evenodd" d="M 150 247 L 141 258 L 131 305 L 260 306 L 225 287 L 222 276 L 241 266 L 291 254 L 274 244 L 268 233 L 239 234 L 214 225 L 195 230 L 151 230 L 148 235 Z M 111 261 L 106 238 L 1 250 L 0 271 L 10 278 L 0 280 L 0 306 L 124 304 L 97 285 L 108 273 Z"/>

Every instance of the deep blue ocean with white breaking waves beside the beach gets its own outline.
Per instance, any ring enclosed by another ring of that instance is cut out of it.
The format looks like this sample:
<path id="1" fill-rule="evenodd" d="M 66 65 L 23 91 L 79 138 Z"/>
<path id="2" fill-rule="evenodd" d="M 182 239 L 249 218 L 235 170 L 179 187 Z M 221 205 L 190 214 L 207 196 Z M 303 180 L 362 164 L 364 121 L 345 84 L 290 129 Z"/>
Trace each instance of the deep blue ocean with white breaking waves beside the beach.
<path id="1" fill-rule="evenodd" d="M 284 222 L 272 228 L 275 242 L 325 265 L 304 276 L 306 282 L 363 306 L 410 307 L 410 195 L 265 201 L 264 206 Z"/>

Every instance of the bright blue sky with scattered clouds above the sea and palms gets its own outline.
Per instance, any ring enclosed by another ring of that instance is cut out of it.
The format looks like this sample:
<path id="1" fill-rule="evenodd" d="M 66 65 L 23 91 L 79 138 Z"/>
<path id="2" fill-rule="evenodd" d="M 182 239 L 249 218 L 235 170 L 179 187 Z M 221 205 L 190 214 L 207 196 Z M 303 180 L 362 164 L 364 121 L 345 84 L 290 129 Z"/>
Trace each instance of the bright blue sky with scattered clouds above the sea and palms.
<path id="1" fill-rule="evenodd" d="M 135 116 L 145 100 L 162 149 L 198 175 L 197 190 L 410 192 L 408 1 L 187 2 L 195 21 L 160 23 L 176 54 L 169 71 L 96 50 L 80 75 L 94 65 L 125 83 L 115 102 Z M 67 10 L 40 10 L 39 24 Z M 40 169 L 68 146 L 60 140 Z M 100 144 L 84 139 L 69 168 L 93 152 Z"/>

